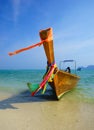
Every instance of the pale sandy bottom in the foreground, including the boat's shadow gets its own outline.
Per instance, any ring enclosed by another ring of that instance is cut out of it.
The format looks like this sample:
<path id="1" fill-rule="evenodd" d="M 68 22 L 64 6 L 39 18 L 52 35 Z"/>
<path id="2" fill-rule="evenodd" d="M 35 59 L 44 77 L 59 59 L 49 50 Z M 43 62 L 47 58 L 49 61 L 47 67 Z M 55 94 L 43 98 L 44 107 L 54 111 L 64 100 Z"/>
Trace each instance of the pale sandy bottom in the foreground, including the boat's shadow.
<path id="1" fill-rule="evenodd" d="M 94 103 L 0 92 L 0 130 L 94 130 Z"/>

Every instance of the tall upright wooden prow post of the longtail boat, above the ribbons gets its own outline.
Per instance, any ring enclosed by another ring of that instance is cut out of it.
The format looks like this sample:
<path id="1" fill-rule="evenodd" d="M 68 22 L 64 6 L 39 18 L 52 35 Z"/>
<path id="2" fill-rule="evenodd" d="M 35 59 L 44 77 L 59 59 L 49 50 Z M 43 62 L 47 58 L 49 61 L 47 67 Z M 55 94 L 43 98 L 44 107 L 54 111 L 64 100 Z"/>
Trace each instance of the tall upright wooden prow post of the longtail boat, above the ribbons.
<path id="1" fill-rule="evenodd" d="M 49 64 L 55 61 L 54 59 L 54 48 L 53 48 L 53 34 L 52 28 L 48 28 L 46 30 L 41 30 L 39 32 L 41 40 L 46 40 L 43 43 L 43 47 L 45 50 L 45 54 L 47 57 L 47 61 Z"/>

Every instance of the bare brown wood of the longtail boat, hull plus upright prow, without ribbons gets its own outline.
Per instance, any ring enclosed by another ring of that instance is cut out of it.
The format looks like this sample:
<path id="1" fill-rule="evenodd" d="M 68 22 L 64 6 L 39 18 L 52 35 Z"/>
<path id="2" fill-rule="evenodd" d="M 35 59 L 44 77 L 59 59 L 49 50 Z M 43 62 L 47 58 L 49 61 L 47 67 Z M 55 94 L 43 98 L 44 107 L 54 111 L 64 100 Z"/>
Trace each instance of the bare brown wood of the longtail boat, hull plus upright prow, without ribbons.
<path id="1" fill-rule="evenodd" d="M 46 42 L 43 43 L 43 47 L 44 47 L 44 51 L 45 51 L 48 63 L 49 64 L 54 63 L 55 58 L 54 58 L 52 28 L 41 30 L 40 38 L 41 40 L 48 39 Z M 79 80 L 78 76 L 68 73 L 68 72 L 58 70 L 53 78 L 53 81 L 49 82 L 49 84 L 54 89 L 56 96 L 59 99 L 65 92 L 74 88 L 78 80 Z"/>

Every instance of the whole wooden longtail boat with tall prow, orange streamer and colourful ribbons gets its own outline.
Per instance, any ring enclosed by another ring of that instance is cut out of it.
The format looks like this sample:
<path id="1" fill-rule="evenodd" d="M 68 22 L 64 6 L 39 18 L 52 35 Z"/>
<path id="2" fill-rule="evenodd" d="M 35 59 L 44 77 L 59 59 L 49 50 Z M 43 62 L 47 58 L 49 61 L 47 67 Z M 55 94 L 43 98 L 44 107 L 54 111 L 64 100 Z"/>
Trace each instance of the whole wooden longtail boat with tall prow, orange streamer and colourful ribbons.
<path id="1" fill-rule="evenodd" d="M 44 93 L 47 84 L 49 84 L 53 88 L 57 99 L 60 99 L 64 93 L 70 91 L 77 85 L 79 76 L 65 72 L 64 70 L 60 70 L 57 67 L 54 58 L 52 28 L 41 30 L 39 35 L 41 42 L 26 48 L 22 48 L 20 50 L 16 50 L 14 52 L 10 52 L 9 55 L 12 56 L 36 46 L 43 45 L 47 58 L 47 70 L 43 76 L 43 81 L 40 84 L 27 83 L 27 85 L 31 91 L 32 96 L 34 96 L 40 89 L 42 89 L 42 93 Z"/>

